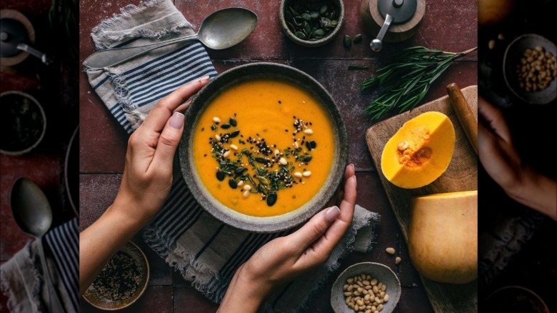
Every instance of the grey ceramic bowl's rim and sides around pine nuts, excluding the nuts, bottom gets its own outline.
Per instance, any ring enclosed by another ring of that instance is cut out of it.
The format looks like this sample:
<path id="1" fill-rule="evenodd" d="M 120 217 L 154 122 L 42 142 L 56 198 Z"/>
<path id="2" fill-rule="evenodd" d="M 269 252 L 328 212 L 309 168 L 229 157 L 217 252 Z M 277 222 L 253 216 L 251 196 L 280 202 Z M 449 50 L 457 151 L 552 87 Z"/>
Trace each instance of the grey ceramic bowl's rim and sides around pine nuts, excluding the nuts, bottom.
<path id="1" fill-rule="evenodd" d="M 333 284 L 331 289 L 331 307 L 336 313 L 353 313 L 354 310 L 346 305 L 346 297 L 344 297 L 343 286 L 346 280 L 360 274 L 370 275 L 376 278 L 378 282 L 386 284 L 386 294 L 388 294 L 388 302 L 383 302 L 381 313 L 391 313 L 394 311 L 398 299 L 401 298 L 401 282 L 396 274 L 388 267 L 380 263 L 362 262 L 353 264 L 344 270 Z"/>

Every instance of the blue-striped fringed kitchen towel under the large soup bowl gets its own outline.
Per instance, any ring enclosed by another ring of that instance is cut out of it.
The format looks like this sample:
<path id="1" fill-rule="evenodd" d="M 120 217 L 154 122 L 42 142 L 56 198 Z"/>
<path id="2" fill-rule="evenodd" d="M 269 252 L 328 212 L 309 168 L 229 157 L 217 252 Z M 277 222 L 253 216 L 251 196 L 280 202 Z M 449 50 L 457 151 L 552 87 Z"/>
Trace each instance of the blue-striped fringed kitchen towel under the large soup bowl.
<path id="1" fill-rule="evenodd" d="M 126 6 L 122 14 L 101 22 L 92 31 L 97 49 L 134 46 L 193 34 L 191 24 L 171 1 L 143 1 Z M 101 70 L 86 69 L 91 88 L 124 129 L 131 132 L 156 101 L 188 81 L 216 76 L 201 44 L 190 42 L 156 49 L 136 59 Z M 186 126 L 187 127 L 187 126 Z M 186 129 L 188 131 L 188 129 Z M 313 292 L 353 249 L 368 252 L 380 217 L 356 208 L 353 225 L 328 262 L 269 297 L 269 312 L 303 309 Z M 253 234 L 222 224 L 191 197 L 175 160 L 174 183 L 164 207 L 144 229 L 144 239 L 169 266 L 214 302 L 224 297 L 231 277 L 259 247 L 293 230 Z M 356 233 L 363 236 L 356 237 Z"/>

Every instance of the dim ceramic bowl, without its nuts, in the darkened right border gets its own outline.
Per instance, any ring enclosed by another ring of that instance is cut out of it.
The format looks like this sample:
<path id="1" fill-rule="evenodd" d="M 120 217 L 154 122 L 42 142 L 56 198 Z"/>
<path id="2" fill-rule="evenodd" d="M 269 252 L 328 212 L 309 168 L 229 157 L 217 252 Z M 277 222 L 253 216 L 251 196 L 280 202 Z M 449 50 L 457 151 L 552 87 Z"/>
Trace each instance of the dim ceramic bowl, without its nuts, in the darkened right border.
<path id="1" fill-rule="evenodd" d="M 557 47 L 553 42 L 537 34 L 524 34 L 507 46 L 503 56 L 503 76 L 508 89 L 511 89 L 513 94 L 522 101 L 528 104 L 548 104 L 557 97 L 557 79 L 553 79 L 546 89 L 540 91 L 528 92 L 522 89 L 518 83 L 516 64 L 520 64 L 526 49 L 533 49 L 535 46 L 543 46 L 545 51 L 551 52 L 553 56 L 557 55 Z"/>

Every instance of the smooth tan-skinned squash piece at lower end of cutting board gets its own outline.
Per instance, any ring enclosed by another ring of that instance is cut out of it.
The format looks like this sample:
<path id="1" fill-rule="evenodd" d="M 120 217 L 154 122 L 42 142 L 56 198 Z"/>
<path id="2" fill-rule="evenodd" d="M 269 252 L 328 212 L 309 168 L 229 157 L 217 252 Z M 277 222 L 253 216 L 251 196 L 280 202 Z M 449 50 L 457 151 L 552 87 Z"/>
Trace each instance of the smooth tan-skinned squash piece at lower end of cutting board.
<path id="1" fill-rule="evenodd" d="M 477 191 L 412 199 L 408 253 L 423 277 L 451 284 L 466 284 L 476 279 L 477 234 Z"/>

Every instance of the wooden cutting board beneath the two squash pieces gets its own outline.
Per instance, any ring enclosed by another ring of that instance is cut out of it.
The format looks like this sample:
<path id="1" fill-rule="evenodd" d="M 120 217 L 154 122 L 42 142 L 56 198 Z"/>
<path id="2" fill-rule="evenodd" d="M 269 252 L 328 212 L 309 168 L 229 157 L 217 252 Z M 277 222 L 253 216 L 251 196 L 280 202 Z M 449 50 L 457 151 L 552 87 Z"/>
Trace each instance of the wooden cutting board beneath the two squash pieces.
<path id="1" fill-rule="evenodd" d="M 471 106 L 476 121 L 478 119 L 478 86 L 468 86 L 462 89 L 462 93 L 468 105 Z M 448 169 L 435 182 L 418 189 L 403 189 L 396 187 L 383 175 L 381 171 L 381 154 L 388 139 L 401 128 L 409 119 L 426 111 L 439 111 L 446 114 L 453 122 L 456 142 L 453 158 Z M 455 111 L 451 106 L 448 96 L 418 106 L 416 109 L 406 111 L 403 114 L 393 116 L 378 124 L 371 126 L 366 132 L 368 149 L 376 165 L 381 183 L 385 188 L 388 201 L 398 219 L 398 224 L 408 242 L 408 220 L 410 217 L 410 198 L 426 194 L 437 194 L 441 192 L 461 192 L 478 189 L 478 157 L 473 151 L 471 144 L 466 138 L 461 124 L 458 122 Z M 477 236 L 477 234 L 471 234 Z M 431 306 L 437 313 L 472 313 L 477 312 L 477 279 L 468 284 L 442 284 L 421 277 L 423 287 L 431 302 Z"/>

